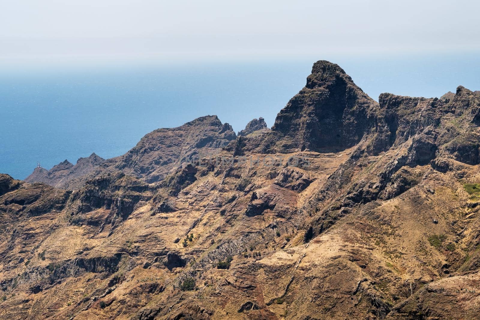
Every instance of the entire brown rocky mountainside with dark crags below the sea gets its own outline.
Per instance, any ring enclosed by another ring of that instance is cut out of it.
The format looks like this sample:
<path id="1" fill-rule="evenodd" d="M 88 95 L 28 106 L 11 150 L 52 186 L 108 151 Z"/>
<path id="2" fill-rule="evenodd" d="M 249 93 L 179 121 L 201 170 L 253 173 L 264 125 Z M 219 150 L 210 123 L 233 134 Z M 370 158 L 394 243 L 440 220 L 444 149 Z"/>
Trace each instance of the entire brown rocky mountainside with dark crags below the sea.
<path id="1" fill-rule="evenodd" d="M 0 175 L 0 319 L 478 319 L 478 92 L 318 61 L 260 119 Z"/>

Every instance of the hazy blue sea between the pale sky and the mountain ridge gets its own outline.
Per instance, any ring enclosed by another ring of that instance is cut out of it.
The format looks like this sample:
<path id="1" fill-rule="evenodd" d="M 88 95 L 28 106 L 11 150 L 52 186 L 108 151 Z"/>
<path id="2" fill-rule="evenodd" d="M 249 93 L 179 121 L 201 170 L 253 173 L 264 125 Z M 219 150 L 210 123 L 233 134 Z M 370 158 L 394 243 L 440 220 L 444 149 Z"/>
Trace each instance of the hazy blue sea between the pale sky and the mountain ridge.
<path id="1" fill-rule="evenodd" d="M 480 90 L 478 57 L 328 58 L 377 99 Z M 0 173 L 24 179 L 37 162 L 117 156 L 152 130 L 208 114 L 236 131 L 258 117 L 271 126 L 314 60 L 1 68 Z"/>

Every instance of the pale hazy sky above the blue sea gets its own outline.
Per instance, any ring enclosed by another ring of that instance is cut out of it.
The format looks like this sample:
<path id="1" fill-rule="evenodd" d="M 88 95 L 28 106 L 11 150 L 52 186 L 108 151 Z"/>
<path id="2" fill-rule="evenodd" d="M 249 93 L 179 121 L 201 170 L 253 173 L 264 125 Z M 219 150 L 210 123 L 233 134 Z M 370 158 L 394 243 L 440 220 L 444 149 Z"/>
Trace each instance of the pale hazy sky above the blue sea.
<path id="1" fill-rule="evenodd" d="M 308 58 L 480 49 L 480 1 L 474 0 L 0 3 L 4 63 Z"/>

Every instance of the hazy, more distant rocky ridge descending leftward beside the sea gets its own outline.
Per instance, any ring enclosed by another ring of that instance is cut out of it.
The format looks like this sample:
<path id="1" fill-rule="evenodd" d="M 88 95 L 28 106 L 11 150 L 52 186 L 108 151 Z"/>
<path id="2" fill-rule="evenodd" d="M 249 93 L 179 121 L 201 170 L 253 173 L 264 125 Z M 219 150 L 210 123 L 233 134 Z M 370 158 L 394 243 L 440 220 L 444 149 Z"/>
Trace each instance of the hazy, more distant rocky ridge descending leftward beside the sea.
<path id="1" fill-rule="evenodd" d="M 236 137 L 228 123 L 222 123 L 215 115 L 204 116 L 177 128 L 154 130 L 119 157 L 105 160 L 92 153 L 86 158 L 79 158 L 75 166 L 65 160 L 49 171 L 34 172 L 25 181 L 78 189 L 85 181 L 101 173 L 120 170 L 148 182 L 156 182 L 177 166 L 181 158 L 199 152 L 217 152 Z"/>

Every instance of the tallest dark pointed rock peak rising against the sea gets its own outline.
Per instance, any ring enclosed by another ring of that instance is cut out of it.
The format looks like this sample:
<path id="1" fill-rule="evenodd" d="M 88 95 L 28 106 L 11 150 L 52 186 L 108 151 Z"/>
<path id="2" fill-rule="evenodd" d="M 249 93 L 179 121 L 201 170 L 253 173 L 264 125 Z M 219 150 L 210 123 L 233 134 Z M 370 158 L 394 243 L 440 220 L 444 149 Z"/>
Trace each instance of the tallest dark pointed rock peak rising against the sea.
<path id="1" fill-rule="evenodd" d="M 306 86 L 277 115 L 272 127 L 285 151 L 338 151 L 359 142 L 378 104 L 337 64 L 313 64 Z"/>

